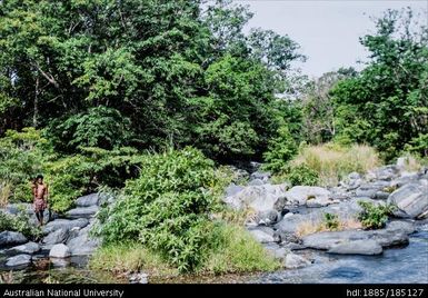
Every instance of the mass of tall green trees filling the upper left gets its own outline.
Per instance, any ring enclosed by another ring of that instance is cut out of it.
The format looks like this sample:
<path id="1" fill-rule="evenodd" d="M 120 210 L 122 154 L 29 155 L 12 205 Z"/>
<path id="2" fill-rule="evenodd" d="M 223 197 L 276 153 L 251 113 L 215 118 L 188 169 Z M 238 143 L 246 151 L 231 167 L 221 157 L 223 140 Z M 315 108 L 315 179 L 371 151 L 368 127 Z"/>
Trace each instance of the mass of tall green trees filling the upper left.
<path id="1" fill-rule="evenodd" d="M 305 58 L 287 36 L 246 36 L 246 8 L 200 2 L 1 2 L 0 135 L 46 127 L 63 153 L 191 143 L 218 160 L 260 157 L 275 93 Z"/>

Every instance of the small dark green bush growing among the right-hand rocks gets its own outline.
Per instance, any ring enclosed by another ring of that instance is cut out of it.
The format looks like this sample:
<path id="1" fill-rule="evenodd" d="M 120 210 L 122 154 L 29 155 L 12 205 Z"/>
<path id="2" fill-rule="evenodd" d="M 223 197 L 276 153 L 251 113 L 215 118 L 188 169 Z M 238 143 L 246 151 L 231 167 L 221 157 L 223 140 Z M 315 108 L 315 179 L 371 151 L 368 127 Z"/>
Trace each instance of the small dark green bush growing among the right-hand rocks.
<path id="1" fill-rule="evenodd" d="M 388 221 L 388 216 L 396 209 L 394 205 L 374 205 L 369 201 L 358 201 L 358 205 L 362 208 L 358 219 L 366 229 L 384 228 Z"/>

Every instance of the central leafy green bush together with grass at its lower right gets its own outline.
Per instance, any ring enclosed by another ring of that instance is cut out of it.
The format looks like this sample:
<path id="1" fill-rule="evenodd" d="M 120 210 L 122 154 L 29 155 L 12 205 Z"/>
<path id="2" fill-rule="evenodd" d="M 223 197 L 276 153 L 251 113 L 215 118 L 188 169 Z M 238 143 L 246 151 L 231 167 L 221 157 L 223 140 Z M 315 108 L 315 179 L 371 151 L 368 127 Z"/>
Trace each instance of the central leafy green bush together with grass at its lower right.
<path id="1" fill-rule="evenodd" d="M 231 227 L 210 220 L 220 210 L 216 185 L 221 181 L 213 162 L 200 151 L 185 148 L 147 155 L 140 172 L 127 182 L 113 206 L 99 215 L 96 234 L 104 245 L 138 239 L 179 271 L 272 266 L 261 247 L 249 241 L 250 236 L 239 230 L 243 235 L 237 238 Z M 246 250 L 247 245 L 252 248 Z"/>

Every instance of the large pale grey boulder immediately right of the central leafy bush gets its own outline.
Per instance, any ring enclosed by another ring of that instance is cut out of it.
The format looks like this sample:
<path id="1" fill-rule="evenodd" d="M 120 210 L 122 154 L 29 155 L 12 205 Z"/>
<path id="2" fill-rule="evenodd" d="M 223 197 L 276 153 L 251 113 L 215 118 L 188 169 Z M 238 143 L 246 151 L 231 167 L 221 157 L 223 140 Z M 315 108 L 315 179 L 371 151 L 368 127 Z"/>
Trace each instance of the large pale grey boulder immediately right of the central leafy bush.
<path id="1" fill-rule="evenodd" d="M 248 186 L 238 193 L 223 198 L 236 210 L 252 209 L 256 212 L 282 210 L 287 183 Z"/>

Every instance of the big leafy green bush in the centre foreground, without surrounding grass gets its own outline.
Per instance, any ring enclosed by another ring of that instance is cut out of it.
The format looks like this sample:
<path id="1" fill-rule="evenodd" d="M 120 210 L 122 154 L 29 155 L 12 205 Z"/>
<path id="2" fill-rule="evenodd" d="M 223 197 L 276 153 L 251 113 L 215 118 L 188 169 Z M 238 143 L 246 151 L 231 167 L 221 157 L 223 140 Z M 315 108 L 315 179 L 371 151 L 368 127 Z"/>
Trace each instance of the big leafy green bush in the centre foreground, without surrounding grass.
<path id="1" fill-rule="evenodd" d="M 206 256 L 216 206 L 213 162 L 191 148 L 147 155 L 140 177 L 100 215 L 104 242 L 139 239 L 180 271 L 192 271 Z"/>

